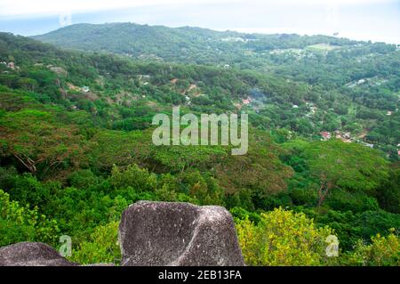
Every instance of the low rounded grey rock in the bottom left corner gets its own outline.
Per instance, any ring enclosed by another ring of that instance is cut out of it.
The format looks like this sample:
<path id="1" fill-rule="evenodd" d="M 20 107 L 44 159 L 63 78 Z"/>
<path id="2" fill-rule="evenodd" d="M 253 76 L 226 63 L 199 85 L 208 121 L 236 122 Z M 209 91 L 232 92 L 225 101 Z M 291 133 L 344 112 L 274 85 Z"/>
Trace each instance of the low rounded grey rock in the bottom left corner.
<path id="1" fill-rule="evenodd" d="M 0 266 L 76 266 L 52 247 L 40 242 L 20 242 L 0 248 Z"/>

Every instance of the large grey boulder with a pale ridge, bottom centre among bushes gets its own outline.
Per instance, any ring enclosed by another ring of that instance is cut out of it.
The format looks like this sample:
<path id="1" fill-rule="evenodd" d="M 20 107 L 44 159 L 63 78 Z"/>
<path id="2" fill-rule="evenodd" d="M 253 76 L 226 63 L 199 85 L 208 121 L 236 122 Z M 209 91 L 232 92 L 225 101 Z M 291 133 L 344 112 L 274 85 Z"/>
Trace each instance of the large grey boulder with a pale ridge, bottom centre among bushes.
<path id="1" fill-rule="evenodd" d="M 244 265 L 232 216 L 223 207 L 140 201 L 119 226 L 123 266 Z"/>

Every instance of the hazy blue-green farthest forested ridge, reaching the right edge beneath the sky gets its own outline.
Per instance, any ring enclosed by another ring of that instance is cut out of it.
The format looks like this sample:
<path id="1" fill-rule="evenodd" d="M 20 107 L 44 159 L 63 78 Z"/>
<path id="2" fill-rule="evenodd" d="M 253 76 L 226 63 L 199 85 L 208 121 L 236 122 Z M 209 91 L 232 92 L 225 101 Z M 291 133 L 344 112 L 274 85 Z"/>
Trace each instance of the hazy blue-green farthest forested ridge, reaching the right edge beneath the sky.
<path id="1" fill-rule="evenodd" d="M 63 48 L 275 72 L 325 88 L 398 78 L 396 45 L 294 34 L 241 34 L 133 23 L 76 24 L 34 37 Z"/>

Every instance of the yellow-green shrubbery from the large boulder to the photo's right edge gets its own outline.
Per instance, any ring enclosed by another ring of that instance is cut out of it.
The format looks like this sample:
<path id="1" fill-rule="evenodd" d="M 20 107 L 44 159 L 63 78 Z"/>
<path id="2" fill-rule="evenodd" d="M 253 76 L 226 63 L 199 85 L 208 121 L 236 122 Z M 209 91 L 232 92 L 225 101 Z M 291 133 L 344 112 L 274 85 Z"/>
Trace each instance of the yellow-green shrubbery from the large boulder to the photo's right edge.
<path id="1" fill-rule="evenodd" d="M 236 210 L 234 210 L 236 212 Z M 252 214 L 254 215 L 254 214 Z M 356 241 L 352 251 L 338 251 L 328 257 L 339 239 L 332 238 L 328 226 L 316 223 L 303 213 L 292 213 L 282 208 L 258 215 L 258 222 L 242 214 L 237 219 L 237 232 L 244 261 L 250 265 L 393 265 L 400 264 L 400 241 L 391 229 L 387 237 L 372 236 L 371 244 Z M 339 247 L 338 247 L 339 248 Z M 332 249 L 332 250 L 331 250 Z"/>

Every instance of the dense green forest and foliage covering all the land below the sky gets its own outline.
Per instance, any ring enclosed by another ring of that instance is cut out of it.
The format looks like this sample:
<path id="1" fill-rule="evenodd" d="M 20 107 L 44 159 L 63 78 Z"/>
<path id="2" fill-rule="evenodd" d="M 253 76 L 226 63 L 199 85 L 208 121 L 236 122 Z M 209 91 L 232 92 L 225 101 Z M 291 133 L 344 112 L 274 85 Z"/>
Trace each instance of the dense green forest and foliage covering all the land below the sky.
<path id="1" fill-rule="evenodd" d="M 248 264 L 398 265 L 396 46 L 132 24 L 37 38 L 92 52 L 0 34 L 0 246 L 67 234 L 72 260 L 117 262 L 121 213 L 147 199 L 227 207 Z M 174 105 L 247 112 L 247 154 L 153 145 Z M 321 141 L 335 130 L 351 139 Z"/>

